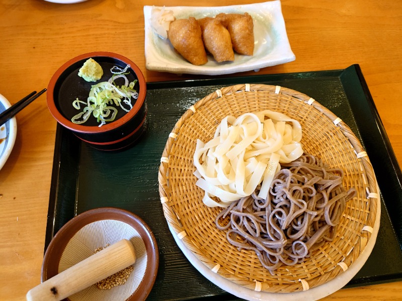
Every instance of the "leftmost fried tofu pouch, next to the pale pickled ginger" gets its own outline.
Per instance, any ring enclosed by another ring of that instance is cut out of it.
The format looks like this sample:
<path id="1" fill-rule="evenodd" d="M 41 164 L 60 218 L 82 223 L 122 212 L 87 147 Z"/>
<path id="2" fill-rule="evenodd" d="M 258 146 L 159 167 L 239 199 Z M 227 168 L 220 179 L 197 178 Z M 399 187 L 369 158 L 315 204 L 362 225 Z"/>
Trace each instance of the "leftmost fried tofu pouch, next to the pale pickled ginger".
<path id="1" fill-rule="evenodd" d="M 174 49 L 191 64 L 198 66 L 208 62 L 201 28 L 194 17 L 171 22 L 167 38 Z"/>

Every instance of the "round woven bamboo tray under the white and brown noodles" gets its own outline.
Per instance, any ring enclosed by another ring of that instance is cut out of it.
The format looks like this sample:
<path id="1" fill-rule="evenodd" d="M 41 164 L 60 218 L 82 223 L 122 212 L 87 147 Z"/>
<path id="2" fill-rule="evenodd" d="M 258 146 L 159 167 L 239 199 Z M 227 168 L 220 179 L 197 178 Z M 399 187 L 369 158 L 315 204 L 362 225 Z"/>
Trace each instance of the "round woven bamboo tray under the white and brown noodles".
<path id="1" fill-rule="evenodd" d="M 298 120 L 305 152 L 331 167 L 342 168 L 343 186 L 357 190 L 357 196 L 347 203 L 334 241 L 303 263 L 279 267 L 274 275 L 262 267 L 254 251 L 238 251 L 226 240 L 226 233 L 216 228 L 215 218 L 221 209 L 203 204 L 203 191 L 195 186 L 192 159 L 196 140 L 210 140 L 224 117 L 265 109 Z M 184 245 L 214 272 L 252 290 L 285 293 L 326 283 L 356 261 L 371 236 L 375 239 L 373 227 L 380 218 L 374 171 L 351 129 L 318 101 L 280 86 L 235 85 L 196 102 L 169 134 L 158 180 L 165 218 Z"/>

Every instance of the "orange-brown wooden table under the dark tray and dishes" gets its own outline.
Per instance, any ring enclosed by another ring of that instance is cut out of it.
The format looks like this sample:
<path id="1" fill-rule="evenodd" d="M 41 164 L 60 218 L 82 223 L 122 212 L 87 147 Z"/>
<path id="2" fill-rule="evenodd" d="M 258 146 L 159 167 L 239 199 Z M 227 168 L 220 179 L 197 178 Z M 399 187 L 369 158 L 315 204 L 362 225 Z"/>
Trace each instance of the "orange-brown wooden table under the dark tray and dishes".
<path id="1" fill-rule="evenodd" d="M 145 68 L 143 6 L 192 3 L 88 0 L 62 5 L 2 0 L 0 93 L 13 104 L 29 92 L 47 87 L 53 73 L 68 59 L 92 51 L 130 58 L 148 82 L 207 78 L 177 77 Z M 198 0 L 196 5 L 245 3 L 252 2 Z M 360 64 L 396 158 L 402 162 L 402 2 L 283 0 L 282 12 L 296 60 L 258 73 Z M 56 132 L 45 96 L 20 112 L 17 123 L 13 152 L 0 171 L 0 300 L 24 300 L 27 291 L 40 283 Z M 396 300 L 401 296 L 402 282 L 393 282 L 341 289 L 326 299 Z"/>

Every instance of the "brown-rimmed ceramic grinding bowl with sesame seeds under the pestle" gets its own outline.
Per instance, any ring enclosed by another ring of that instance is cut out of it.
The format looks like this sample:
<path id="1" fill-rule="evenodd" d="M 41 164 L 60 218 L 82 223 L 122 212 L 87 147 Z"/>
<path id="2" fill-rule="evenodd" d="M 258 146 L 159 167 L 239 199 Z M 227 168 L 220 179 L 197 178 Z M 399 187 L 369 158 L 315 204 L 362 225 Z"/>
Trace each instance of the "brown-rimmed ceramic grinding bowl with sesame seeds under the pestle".
<path id="1" fill-rule="evenodd" d="M 95 249 L 129 240 L 136 251 L 134 270 L 127 282 L 99 289 L 95 284 L 67 298 L 80 300 L 145 300 L 158 271 L 159 253 L 151 229 L 137 215 L 118 208 L 104 207 L 85 211 L 68 221 L 54 236 L 46 249 L 42 264 L 42 279 L 55 276 L 70 266 L 88 258 Z"/>

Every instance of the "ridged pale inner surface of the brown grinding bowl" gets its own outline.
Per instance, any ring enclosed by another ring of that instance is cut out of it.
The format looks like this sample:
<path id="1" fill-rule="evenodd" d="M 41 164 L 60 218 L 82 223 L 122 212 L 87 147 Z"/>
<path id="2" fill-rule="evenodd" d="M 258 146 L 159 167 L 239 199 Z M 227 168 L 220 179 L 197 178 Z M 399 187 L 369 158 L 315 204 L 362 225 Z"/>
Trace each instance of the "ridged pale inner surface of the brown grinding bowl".
<path id="1" fill-rule="evenodd" d="M 80 229 L 66 246 L 59 264 L 59 273 L 94 254 L 98 247 L 114 244 L 122 239 L 129 240 L 136 252 L 134 270 L 126 283 L 111 289 L 99 289 L 96 285 L 77 292 L 71 301 L 118 301 L 126 300 L 140 285 L 147 267 L 147 252 L 140 234 L 132 226 L 116 220 L 102 220 L 90 223 Z"/>

